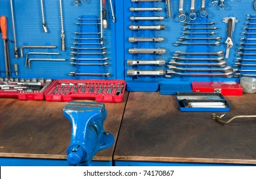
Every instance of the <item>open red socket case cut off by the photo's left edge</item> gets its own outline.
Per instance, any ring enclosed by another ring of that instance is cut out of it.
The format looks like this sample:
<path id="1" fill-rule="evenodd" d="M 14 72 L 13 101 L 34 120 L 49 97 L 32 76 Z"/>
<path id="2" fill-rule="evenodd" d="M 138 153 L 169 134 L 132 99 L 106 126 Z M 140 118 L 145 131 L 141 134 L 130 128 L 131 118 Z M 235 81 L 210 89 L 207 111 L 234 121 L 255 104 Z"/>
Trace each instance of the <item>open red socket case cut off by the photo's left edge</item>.
<path id="1" fill-rule="evenodd" d="M 52 79 L 3 79 L 0 78 L 0 97 L 19 100 L 44 100 L 44 91 Z"/>

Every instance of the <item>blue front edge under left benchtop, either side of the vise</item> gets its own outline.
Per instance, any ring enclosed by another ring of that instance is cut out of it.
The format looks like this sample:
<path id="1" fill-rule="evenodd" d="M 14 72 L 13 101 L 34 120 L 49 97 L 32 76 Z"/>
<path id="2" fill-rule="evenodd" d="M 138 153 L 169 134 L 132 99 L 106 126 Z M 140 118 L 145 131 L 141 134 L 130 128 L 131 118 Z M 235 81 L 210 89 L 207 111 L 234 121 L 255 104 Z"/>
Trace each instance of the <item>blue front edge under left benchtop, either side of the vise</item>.
<path id="1" fill-rule="evenodd" d="M 62 159 L 0 158 L 0 166 L 69 166 Z M 112 161 L 92 161 L 91 166 L 112 166 Z"/>

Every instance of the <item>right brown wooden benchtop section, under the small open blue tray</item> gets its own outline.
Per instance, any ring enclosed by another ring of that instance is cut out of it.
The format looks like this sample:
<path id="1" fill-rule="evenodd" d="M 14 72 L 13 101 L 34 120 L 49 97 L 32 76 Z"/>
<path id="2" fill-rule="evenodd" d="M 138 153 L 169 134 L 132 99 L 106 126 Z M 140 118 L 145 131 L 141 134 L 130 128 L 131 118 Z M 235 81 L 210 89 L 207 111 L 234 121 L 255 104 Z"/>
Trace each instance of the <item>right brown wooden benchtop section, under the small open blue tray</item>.
<path id="1" fill-rule="evenodd" d="M 256 94 L 225 98 L 224 120 L 256 114 Z M 211 114 L 181 112 L 175 96 L 130 93 L 114 160 L 256 164 L 256 118 L 223 126 Z"/>

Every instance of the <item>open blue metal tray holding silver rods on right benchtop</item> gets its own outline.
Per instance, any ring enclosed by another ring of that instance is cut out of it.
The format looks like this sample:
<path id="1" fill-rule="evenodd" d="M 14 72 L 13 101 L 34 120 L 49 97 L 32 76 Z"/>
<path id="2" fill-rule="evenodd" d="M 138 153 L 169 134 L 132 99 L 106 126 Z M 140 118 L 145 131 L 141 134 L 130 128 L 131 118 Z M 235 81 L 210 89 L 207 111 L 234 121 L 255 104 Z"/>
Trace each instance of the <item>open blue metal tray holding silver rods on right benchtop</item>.
<path id="1" fill-rule="evenodd" d="M 176 93 L 180 111 L 230 111 L 230 105 L 221 93 Z M 191 102 L 221 102 L 225 107 L 191 107 Z"/>

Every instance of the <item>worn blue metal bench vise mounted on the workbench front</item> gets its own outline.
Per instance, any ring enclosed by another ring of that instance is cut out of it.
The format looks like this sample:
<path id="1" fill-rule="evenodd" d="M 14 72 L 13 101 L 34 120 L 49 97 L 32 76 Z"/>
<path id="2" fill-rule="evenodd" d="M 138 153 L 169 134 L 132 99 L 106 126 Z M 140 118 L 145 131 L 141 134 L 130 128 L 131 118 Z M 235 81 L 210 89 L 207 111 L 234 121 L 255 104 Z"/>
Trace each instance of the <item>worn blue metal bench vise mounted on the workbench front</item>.
<path id="1" fill-rule="evenodd" d="M 103 127 L 107 117 L 105 104 L 68 102 L 63 114 L 72 123 L 71 143 L 67 148 L 69 165 L 90 166 L 99 150 L 105 150 L 114 144 L 114 136 Z"/>

